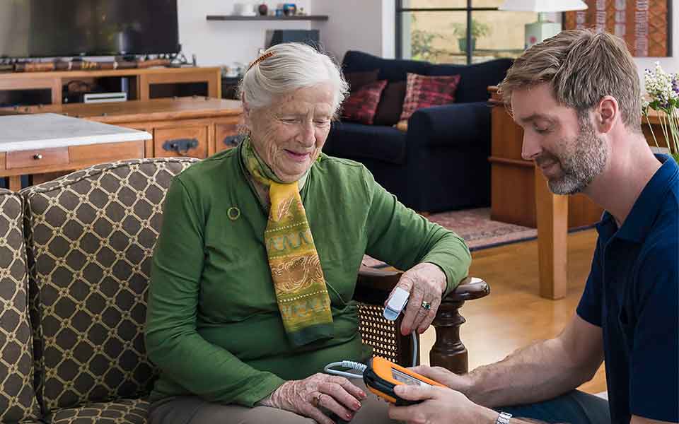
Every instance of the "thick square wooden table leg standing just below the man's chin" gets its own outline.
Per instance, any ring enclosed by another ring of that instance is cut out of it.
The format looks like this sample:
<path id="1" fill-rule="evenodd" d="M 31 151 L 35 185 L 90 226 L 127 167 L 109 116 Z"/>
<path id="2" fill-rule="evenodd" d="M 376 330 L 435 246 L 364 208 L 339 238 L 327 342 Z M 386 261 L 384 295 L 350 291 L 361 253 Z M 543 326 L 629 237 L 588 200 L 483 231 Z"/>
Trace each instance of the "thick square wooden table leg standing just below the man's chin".
<path id="1" fill-rule="evenodd" d="M 552 194 L 538 167 L 535 167 L 535 209 L 540 296 L 562 299 L 568 290 L 568 196 Z"/>

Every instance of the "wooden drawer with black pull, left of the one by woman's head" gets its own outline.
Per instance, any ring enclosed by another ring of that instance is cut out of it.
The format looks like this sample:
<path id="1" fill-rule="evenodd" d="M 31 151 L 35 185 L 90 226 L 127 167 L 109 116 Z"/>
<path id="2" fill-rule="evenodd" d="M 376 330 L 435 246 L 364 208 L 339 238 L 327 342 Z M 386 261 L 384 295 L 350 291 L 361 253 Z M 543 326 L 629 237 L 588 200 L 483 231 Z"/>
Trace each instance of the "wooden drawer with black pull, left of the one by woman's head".
<path id="1" fill-rule="evenodd" d="M 153 156 L 207 158 L 207 126 L 154 129 Z"/>

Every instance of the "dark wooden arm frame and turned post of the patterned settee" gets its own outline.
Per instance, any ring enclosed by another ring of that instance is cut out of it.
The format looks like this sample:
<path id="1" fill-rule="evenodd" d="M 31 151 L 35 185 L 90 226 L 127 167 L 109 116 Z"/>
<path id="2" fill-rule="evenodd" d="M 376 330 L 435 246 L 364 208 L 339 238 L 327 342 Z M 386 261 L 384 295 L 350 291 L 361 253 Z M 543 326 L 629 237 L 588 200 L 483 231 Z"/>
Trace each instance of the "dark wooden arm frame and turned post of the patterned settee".
<path id="1" fill-rule="evenodd" d="M 362 266 L 356 283 L 354 298 L 368 305 L 382 305 L 401 276 L 400 271 L 385 271 Z M 458 374 L 468 371 L 468 352 L 460 340 L 460 325 L 465 319 L 460 315 L 460 307 L 467 300 L 479 299 L 490 293 L 489 285 L 480 278 L 465 278 L 457 288 L 443 298 L 433 326 L 436 329 L 436 342 L 429 353 L 432 366 L 445 367 Z M 384 324 L 378 324 L 384 334 Z M 393 324 L 394 325 L 394 324 Z M 410 337 L 401 336 L 398 331 L 400 322 L 395 324 L 398 352 L 395 359 L 401 365 L 410 365 L 412 347 Z M 365 339 L 365 337 L 364 337 Z"/>

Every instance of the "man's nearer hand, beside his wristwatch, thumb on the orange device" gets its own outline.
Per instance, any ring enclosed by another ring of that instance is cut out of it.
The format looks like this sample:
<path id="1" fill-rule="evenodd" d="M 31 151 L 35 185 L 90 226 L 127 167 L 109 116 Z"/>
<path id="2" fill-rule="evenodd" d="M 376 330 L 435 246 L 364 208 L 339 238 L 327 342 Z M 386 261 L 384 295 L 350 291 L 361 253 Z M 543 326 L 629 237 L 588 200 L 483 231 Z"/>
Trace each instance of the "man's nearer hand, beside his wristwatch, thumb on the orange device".
<path id="1" fill-rule="evenodd" d="M 389 418 L 408 424 L 479 423 L 492 424 L 497 412 L 484 408 L 453 389 L 398 385 L 395 393 L 409 401 L 423 401 L 410 406 L 389 406 Z"/>

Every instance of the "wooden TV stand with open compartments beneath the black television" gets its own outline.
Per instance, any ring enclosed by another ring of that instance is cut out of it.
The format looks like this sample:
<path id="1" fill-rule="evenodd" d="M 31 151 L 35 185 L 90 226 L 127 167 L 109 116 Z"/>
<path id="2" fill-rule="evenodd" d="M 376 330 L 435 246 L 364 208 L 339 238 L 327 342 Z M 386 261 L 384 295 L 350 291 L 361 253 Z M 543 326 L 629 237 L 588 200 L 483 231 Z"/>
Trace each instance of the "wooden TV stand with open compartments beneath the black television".
<path id="1" fill-rule="evenodd" d="M 129 80 L 129 100 L 150 100 L 152 98 L 171 98 L 175 95 L 202 95 L 210 98 L 221 98 L 221 69 L 217 67 L 201 68 L 146 68 L 146 69 L 105 69 L 98 71 L 49 71 L 49 72 L 12 72 L 0 73 L 0 104 L 8 103 L 6 99 L 20 107 L 35 105 L 21 101 L 23 93 L 45 93 L 45 105 L 61 105 L 62 87 L 73 80 L 95 81 L 97 78 L 126 77 Z M 201 86 L 194 93 L 176 94 L 180 86 Z M 23 93 L 22 93 L 23 91 Z"/>

